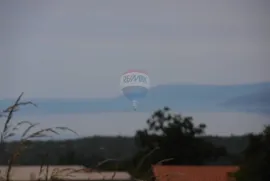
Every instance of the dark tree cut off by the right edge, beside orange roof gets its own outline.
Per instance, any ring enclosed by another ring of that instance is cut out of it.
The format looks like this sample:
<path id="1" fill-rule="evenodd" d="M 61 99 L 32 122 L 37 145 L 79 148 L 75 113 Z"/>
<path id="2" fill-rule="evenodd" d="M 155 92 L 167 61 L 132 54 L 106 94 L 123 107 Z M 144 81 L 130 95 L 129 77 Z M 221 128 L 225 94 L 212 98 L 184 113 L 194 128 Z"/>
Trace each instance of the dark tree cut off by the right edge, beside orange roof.
<path id="1" fill-rule="evenodd" d="M 270 180 L 270 125 L 260 134 L 249 135 L 249 145 L 235 177 L 237 181 Z"/>

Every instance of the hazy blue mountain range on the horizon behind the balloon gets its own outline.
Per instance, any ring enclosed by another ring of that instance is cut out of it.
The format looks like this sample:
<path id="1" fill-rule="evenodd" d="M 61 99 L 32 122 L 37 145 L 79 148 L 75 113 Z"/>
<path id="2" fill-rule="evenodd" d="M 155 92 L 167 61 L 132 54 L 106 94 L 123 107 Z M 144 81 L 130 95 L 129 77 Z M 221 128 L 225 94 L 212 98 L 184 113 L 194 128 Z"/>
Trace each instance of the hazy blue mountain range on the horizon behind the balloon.
<path id="1" fill-rule="evenodd" d="M 0 101 L 0 109 L 14 100 Z M 21 110 L 23 114 L 61 114 L 133 111 L 123 96 L 104 99 L 34 99 L 38 108 Z M 168 106 L 175 111 L 240 111 L 270 113 L 270 82 L 243 85 L 159 85 L 139 102 L 139 112 Z"/>

